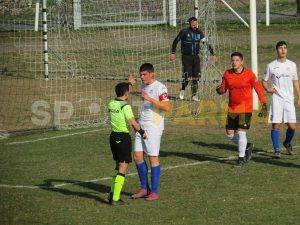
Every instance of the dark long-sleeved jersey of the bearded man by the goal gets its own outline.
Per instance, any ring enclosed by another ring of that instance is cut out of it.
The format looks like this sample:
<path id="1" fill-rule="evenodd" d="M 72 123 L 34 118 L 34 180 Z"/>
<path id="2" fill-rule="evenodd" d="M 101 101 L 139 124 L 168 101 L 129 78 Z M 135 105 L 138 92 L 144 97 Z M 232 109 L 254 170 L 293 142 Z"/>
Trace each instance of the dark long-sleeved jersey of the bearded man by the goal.
<path id="1" fill-rule="evenodd" d="M 205 41 L 205 36 L 199 29 L 182 29 L 172 44 L 172 53 L 176 52 L 178 42 L 181 41 L 181 53 L 183 55 L 198 55 L 200 42 Z"/>

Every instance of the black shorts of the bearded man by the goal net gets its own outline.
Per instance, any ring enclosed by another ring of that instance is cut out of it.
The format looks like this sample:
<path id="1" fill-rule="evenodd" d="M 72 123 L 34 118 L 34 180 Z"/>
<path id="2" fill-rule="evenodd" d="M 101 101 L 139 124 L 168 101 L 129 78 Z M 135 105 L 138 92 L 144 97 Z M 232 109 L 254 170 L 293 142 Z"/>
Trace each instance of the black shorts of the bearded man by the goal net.
<path id="1" fill-rule="evenodd" d="M 199 55 L 182 55 L 183 78 L 200 77 L 200 58 Z"/>

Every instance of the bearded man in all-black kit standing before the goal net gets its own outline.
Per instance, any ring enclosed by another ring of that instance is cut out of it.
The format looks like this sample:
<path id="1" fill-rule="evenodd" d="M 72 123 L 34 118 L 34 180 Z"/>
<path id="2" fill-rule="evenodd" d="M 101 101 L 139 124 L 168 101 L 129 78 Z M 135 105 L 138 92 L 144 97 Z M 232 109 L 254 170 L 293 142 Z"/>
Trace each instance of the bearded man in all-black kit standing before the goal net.
<path id="1" fill-rule="evenodd" d="M 198 29 L 197 18 L 191 17 L 188 21 L 189 27 L 186 29 L 182 29 L 173 41 L 170 61 L 175 60 L 176 47 L 178 42 L 181 41 L 183 79 L 179 98 L 181 100 L 184 99 L 184 90 L 191 80 L 192 99 L 194 101 L 199 101 L 199 98 L 197 96 L 198 81 L 201 77 L 199 50 L 200 42 L 205 44 L 206 38 L 203 32 Z M 207 46 L 210 54 L 214 56 L 213 48 L 210 45 Z"/>

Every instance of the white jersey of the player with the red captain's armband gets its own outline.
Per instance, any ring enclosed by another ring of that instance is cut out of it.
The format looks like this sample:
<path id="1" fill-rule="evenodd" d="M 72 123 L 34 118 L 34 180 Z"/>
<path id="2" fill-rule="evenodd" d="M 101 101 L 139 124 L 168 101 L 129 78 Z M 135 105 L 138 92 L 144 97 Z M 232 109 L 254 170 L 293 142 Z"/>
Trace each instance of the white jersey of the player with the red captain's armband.
<path id="1" fill-rule="evenodd" d="M 154 81 L 152 84 L 142 84 L 142 91 L 158 101 L 169 101 L 168 90 L 164 84 L 159 81 Z M 164 129 L 164 111 L 154 108 L 153 105 L 146 100 L 143 100 L 140 108 L 139 123 L 143 129 L 155 129 L 163 131 Z"/>

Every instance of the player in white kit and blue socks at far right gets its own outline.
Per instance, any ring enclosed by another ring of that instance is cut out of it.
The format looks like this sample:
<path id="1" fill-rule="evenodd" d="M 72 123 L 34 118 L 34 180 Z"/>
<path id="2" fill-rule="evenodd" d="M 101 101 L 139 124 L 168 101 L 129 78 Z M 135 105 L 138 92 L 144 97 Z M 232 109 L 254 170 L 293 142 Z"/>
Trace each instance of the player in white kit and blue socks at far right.
<path id="1" fill-rule="evenodd" d="M 296 110 L 294 90 L 297 94 L 297 106 L 300 108 L 300 88 L 296 64 L 287 59 L 287 44 L 279 41 L 276 44 L 277 59 L 267 65 L 262 84 L 272 94 L 269 123 L 272 123 L 271 138 L 275 158 L 280 158 L 279 125 L 287 124 L 283 146 L 289 155 L 293 154 L 291 141 L 296 129 Z M 271 80 L 272 86 L 268 86 Z"/>

